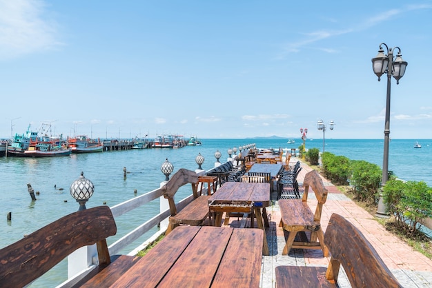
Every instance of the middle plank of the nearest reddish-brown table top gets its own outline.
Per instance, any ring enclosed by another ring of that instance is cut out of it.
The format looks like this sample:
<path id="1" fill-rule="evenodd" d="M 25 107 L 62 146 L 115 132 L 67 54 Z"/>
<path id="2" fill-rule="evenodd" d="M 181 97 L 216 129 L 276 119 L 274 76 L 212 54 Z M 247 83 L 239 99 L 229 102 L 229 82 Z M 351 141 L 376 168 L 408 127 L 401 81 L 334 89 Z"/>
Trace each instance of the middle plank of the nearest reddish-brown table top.
<path id="1" fill-rule="evenodd" d="M 202 227 L 158 287 L 210 287 L 232 233 L 233 228 Z"/>

